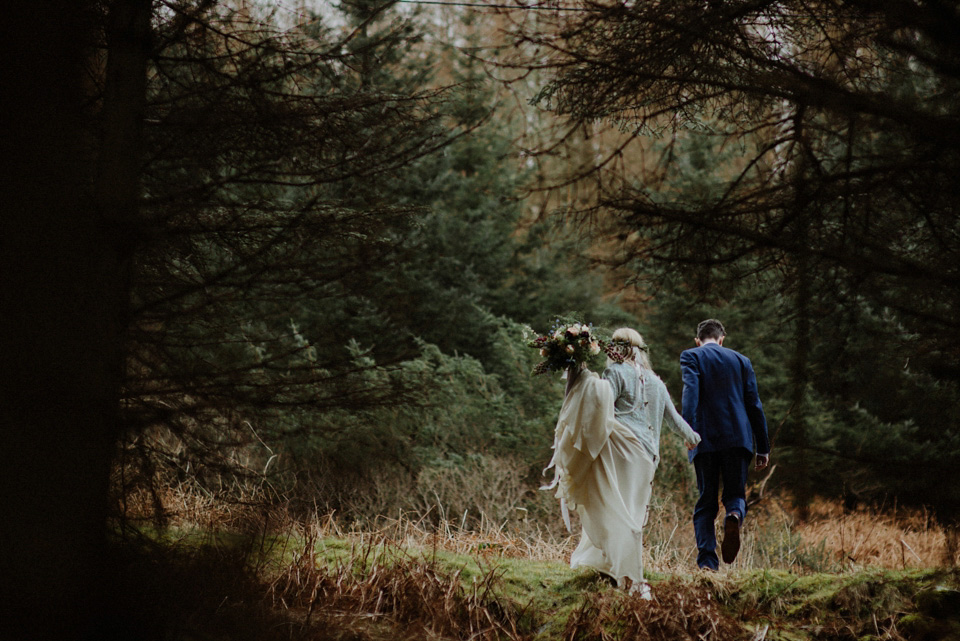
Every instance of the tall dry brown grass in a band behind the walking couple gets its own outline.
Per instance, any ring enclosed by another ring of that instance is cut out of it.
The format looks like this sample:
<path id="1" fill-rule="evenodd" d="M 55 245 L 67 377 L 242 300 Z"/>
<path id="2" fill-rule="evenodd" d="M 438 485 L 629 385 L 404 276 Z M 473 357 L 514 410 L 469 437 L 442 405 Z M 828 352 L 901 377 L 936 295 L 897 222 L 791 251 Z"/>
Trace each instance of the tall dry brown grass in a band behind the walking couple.
<path id="1" fill-rule="evenodd" d="M 419 489 L 404 492 L 397 477 L 385 475 L 374 483 L 379 489 L 372 496 L 358 493 L 353 499 L 355 508 L 382 512 L 354 510 L 306 520 L 302 513 L 292 515 L 283 503 L 265 501 L 269 493 L 263 488 L 231 488 L 213 494 L 183 483 L 159 485 L 153 492 L 131 492 L 124 503 L 134 521 L 162 523 L 178 531 L 285 533 L 312 521 L 320 537 L 349 539 L 359 545 L 386 541 L 483 558 L 565 561 L 579 539 L 576 515 L 573 532 L 567 532 L 556 501 L 524 482 L 508 461 L 430 470 L 421 480 L 424 484 L 418 484 Z M 409 501 L 403 505 L 388 501 L 400 495 Z M 499 507 L 497 497 L 504 500 Z M 785 502 L 765 498 L 751 508 L 741 553 L 729 569 L 841 572 L 960 562 L 950 531 L 923 510 L 848 512 L 836 502 L 821 500 L 813 504 L 810 515 L 800 522 Z M 657 496 L 644 541 L 648 572 L 688 573 L 696 553 L 690 508 L 669 495 Z"/>

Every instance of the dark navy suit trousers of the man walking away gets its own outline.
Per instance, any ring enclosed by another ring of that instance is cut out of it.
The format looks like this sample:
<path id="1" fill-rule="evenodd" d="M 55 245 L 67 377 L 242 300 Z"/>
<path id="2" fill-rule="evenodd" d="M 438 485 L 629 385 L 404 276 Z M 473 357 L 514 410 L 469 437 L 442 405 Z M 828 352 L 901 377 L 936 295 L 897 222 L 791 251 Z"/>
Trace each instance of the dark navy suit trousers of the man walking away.
<path id="1" fill-rule="evenodd" d="M 697 472 L 697 488 L 700 490 L 700 498 L 693 509 L 698 567 L 711 570 L 720 567 L 714 522 L 717 518 L 721 482 L 726 514 L 736 514 L 740 517 L 740 523 L 743 523 L 747 516 L 747 468 L 752 458 L 753 453 L 749 450 L 735 447 L 717 452 L 700 452 L 693 459 L 693 467 Z"/>

